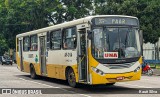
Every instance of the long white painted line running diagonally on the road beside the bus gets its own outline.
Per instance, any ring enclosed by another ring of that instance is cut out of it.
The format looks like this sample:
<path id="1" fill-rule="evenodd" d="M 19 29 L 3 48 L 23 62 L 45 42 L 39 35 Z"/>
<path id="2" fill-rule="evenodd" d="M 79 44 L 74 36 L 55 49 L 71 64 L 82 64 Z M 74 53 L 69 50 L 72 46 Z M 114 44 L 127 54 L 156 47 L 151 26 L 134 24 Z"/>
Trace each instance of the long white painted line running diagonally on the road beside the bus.
<path id="1" fill-rule="evenodd" d="M 60 87 L 50 86 L 50 85 L 47 85 L 47 84 L 42 84 L 42 83 L 39 83 L 39 82 L 26 80 L 26 79 L 23 79 L 23 78 L 19 78 L 19 79 L 24 80 L 24 81 L 28 81 L 28 82 L 32 82 L 32 83 L 36 83 L 36 84 L 39 84 L 39 85 L 47 86 L 47 87 L 50 87 L 50 88 L 58 88 L 60 90 L 63 90 L 63 91 L 66 91 L 66 92 L 70 92 L 70 93 L 73 93 L 73 94 L 79 94 L 79 95 L 82 95 L 82 96 L 85 96 L 85 97 L 91 97 L 91 96 L 86 95 L 86 94 L 80 94 L 80 93 L 77 93 L 77 92 L 74 92 L 74 91 L 68 91 L 68 90 L 62 89 Z"/>

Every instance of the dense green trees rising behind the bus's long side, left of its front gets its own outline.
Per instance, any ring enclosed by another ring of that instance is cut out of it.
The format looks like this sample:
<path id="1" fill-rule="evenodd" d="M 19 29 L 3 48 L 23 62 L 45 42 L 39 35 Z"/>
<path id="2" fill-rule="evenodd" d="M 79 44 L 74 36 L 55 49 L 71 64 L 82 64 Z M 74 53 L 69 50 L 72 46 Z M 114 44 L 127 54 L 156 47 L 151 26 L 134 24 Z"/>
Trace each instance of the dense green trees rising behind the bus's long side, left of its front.
<path id="1" fill-rule="evenodd" d="M 1 34 L 15 48 L 19 33 L 89 15 L 92 0 L 1 0 Z"/>

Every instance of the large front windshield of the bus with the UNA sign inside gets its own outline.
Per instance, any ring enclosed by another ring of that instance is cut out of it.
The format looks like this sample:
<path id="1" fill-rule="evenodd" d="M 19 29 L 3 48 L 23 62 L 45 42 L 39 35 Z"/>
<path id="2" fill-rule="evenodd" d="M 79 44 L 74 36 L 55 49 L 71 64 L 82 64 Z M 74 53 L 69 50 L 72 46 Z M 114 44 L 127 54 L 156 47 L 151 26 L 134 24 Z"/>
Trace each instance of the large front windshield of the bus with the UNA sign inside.
<path id="1" fill-rule="evenodd" d="M 93 28 L 92 55 L 97 59 L 139 57 L 141 52 L 136 28 Z"/>

